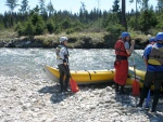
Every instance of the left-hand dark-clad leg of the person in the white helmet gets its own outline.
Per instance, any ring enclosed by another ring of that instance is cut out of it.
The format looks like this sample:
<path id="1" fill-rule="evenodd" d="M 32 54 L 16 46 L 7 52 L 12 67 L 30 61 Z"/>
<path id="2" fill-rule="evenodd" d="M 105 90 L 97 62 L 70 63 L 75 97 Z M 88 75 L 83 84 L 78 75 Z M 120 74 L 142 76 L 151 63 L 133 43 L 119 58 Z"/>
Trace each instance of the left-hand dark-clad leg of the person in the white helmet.
<path id="1" fill-rule="evenodd" d="M 63 78 L 64 78 L 64 71 L 63 71 L 63 65 L 59 65 L 59 72 L 60 72 L 60 86 L 61 86 L 61 92 L 63 92 L 64 86 L 63 86 Z"/>

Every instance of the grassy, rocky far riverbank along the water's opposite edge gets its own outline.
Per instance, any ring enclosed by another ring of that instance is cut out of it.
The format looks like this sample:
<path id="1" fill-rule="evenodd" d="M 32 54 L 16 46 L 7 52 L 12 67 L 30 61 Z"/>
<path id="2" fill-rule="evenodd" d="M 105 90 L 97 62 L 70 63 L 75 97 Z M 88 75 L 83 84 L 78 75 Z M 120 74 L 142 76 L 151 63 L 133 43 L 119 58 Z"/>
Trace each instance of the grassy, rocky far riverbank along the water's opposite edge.
<path id="1" fill-rule="evenodd" d="M 63 32 L 35 37 L 17 37 L 13 33 L 0 37 L 0 48 L 55 48 L 61 36 L 68 38 L 68 48 L 71 49 L 113 49 L 120 38 L 118 35 L 111 35 L 109 32 L 74 32 L 71 35 Z M 149 39 L 148 36 L 131 37 L 136 41 L 135 49 L 145 49 Z"/>

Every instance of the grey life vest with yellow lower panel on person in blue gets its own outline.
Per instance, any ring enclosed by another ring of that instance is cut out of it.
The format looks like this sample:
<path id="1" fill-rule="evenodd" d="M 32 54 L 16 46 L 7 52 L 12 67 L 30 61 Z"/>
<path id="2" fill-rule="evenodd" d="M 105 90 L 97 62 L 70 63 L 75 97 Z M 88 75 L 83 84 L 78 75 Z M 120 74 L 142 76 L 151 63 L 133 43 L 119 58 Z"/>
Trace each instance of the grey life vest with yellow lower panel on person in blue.
<path id="1" fill-rule="evenodd" d="M 152 46 L 148 64 L 163 66 L 163 48 Z"/>

